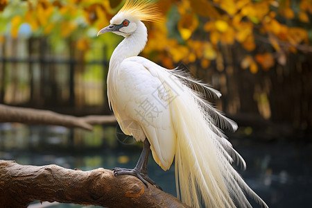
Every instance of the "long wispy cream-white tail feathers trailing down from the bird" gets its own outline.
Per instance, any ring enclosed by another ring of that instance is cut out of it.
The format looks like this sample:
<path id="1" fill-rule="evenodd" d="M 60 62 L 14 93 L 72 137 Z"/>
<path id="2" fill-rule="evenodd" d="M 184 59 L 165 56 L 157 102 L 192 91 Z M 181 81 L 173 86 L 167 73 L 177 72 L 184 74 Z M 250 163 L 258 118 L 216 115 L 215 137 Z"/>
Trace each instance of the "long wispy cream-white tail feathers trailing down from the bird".
<path id="1" fill-rule="evenodd" d="M 164 83 L 170 83 L 172 78 L 165 74 L 162 76 Z M 251 207 L 247 195 L 268 207 L 232 167 L 232 162 L 243 169 L 246 164 L 216 126 L 236 130 L 237 124 L 205 102 L 202 94 L 195 92 L 190 84 L 194 80 L 180 73 L 174 82 L 178 83 L 176 87 L 165 84 L 164 87 L 175 97 L 170 106 L 177 132 L 177 196 L 191 207 Z"/>

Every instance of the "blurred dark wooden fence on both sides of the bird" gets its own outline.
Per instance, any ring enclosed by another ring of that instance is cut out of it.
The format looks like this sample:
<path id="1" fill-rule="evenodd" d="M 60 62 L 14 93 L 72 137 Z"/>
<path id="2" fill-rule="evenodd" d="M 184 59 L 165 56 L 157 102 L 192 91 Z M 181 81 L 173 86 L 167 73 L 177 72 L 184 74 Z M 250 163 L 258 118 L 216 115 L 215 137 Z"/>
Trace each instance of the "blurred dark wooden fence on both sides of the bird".
<path id="1" fill-rule="evenodd" d="M 211 62 L 208 69 L 197 62 L 189 64 L 194 75 L 223 94 L 213 103 L 247 123 L 252 115 L 261 115 L 311 130 L 312 53 L 288 55 L 285 66 L 275 64 L 252 74 L 241 69 L 241 50 L 222 46 L 223 60 Z M 0 44 L 0 103 L 76 115 L 110 113 L 107 60 L 84 61 L 70 40 L 61 54 L 51 51 L 45 37 L 6 39 Z"/>

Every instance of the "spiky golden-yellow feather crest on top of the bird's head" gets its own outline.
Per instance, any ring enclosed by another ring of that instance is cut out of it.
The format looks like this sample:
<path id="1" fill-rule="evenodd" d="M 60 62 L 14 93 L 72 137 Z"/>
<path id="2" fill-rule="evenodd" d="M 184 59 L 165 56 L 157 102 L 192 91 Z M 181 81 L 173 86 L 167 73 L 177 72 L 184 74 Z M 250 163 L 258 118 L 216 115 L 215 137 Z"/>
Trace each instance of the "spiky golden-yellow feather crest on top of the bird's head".
<path id="1" fill-rule="evenodd" d="M 153 0 L 126 0 L 118 14 L 126 14 L 141 21 L 159 21 L 162 15 Z"/>

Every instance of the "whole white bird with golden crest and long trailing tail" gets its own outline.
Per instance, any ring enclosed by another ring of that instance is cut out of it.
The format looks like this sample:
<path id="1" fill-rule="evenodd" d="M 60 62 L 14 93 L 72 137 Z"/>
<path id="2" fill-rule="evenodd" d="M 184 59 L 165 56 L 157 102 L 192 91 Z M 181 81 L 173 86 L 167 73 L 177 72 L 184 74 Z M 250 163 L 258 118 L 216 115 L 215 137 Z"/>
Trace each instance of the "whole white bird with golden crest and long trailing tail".
<path id="1" fill-rule="evenodd" d="M 191 207 L 251 207 L 245 194 L 268 207 L 232 167 L 245 168 L 219 128 L 236 130 L 207 101 L 220 92 L 189 76 L 185 70 L 165 69 L 138 56 L 147 42 L 142 21 L 161 15 L 150 0 L 127 0 L 98 35 L 112 32 L 124 40 L 116 47 L 107 74 L 107 96 L 125 135 L 144 142 L 134 169 L 114 168 L 115 175 L 130 174 L 157 186 L 147 175 L 149 150 L 164 171 L 175 158 L 177 196 Z"/>

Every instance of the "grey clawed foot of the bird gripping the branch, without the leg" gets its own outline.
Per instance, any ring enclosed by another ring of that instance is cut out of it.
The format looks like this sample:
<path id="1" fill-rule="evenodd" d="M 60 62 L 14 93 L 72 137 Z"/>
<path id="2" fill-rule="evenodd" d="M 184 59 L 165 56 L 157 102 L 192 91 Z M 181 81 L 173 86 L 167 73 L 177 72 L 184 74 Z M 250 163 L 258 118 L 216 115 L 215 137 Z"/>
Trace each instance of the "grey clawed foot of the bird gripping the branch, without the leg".
<path id="1" fill-rule="evenodd" d="M 113 168 L 112 171 L 114 171 L 114 175 L 134 175 L 135 177 L 139 178 L 141 182 L 143 182 L 146 187 L 148 187 L 148 183 L 152 184 L 157 189 L 162 190 L 162 187 L 159 187 L 156 182 L 150 179 L 146 173 L 141 173 L 141 171 L 138 168 L 134 169 L 128 169 L 128 168 Z"/>

